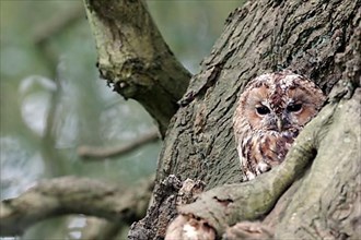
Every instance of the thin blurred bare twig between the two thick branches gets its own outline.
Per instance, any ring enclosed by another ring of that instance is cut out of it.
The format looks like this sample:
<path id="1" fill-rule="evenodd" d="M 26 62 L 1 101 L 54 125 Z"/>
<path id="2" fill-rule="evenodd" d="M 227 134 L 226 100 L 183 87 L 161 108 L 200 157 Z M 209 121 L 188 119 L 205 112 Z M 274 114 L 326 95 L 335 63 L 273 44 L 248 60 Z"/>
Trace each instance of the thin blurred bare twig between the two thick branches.
<path id="1" fill-rule="evenodd" d="M 80 146 L 78 148 L 78 155 L 82 157 L 84 160 L 102 160 L 104 158 L 119 156 L 145 143 L 154 142 L 158 140 L 159 140 L 158 131 L 152 131 L 121 146 L 115 146 L 115 147 Z"/>

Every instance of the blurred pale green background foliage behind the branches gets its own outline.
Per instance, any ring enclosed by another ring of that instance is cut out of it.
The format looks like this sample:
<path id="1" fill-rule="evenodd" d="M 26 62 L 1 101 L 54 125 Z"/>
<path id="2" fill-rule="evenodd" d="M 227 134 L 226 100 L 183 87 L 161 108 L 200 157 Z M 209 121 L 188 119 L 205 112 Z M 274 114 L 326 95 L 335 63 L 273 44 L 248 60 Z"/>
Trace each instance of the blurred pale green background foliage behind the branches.
<path id="1" fill-rule="evenodd" d="M 224 20 L 242 0 L 147 3 L 175 56 L 197 73 Z M 124 100 L 98 77 L 82 2 L 0 4 L 1 200 L 58 176 L 96 178 L 126 188 L 154 173 L 160 141 L 112 159 L 84 161 L 77 154 L 79 146 L 118 146 L 156 128 L 138 103 Z M 32 228 L 23 239 L 80 239 L 84 225 L 82 217 L 55 219 Z"/>

